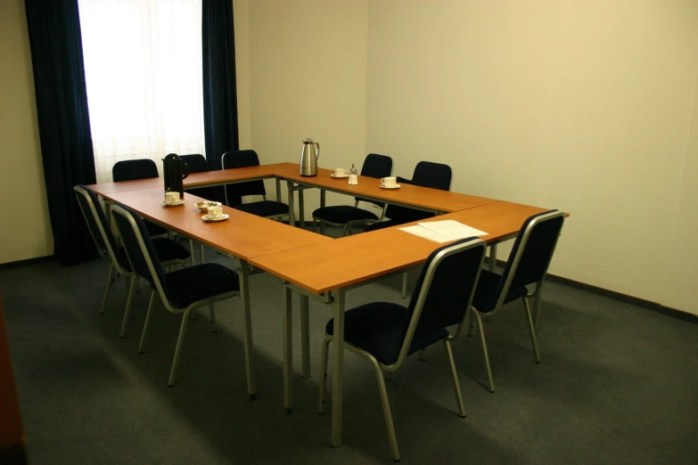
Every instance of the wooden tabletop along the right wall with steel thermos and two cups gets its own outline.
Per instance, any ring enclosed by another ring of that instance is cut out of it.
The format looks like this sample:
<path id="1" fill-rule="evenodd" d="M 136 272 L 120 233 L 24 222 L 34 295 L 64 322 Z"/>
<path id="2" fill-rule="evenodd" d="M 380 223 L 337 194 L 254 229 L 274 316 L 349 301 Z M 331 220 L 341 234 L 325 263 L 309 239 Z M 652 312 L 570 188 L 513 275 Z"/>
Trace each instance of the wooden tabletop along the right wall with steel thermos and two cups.
<path id="1" fill-rule="evenodd" d="M 381 182 L 374 177 L 358 176 L 357 185 L 349 185 L 344 179 L 334 179 L 333 170 L 317 168 L 316 176 L 301 176 L 299 165 L 287 163 L 285 167 L 279 167 L 275 175 L 283 179 L 295 181 L 300 184 L 309 184 L 330 191 L 341 192 L 357 197 L 370 197 L 372 199 L 386 200 L 389 203 L 410 207 L 425 208 L 444 212 L 464 210 L 466 208 L 479 207 L 496 202 L 495 199 L 477 197 L 458 192 L 440 191 L 411 184 L 401 184 L 399 189 L 382 189 Z"/>

